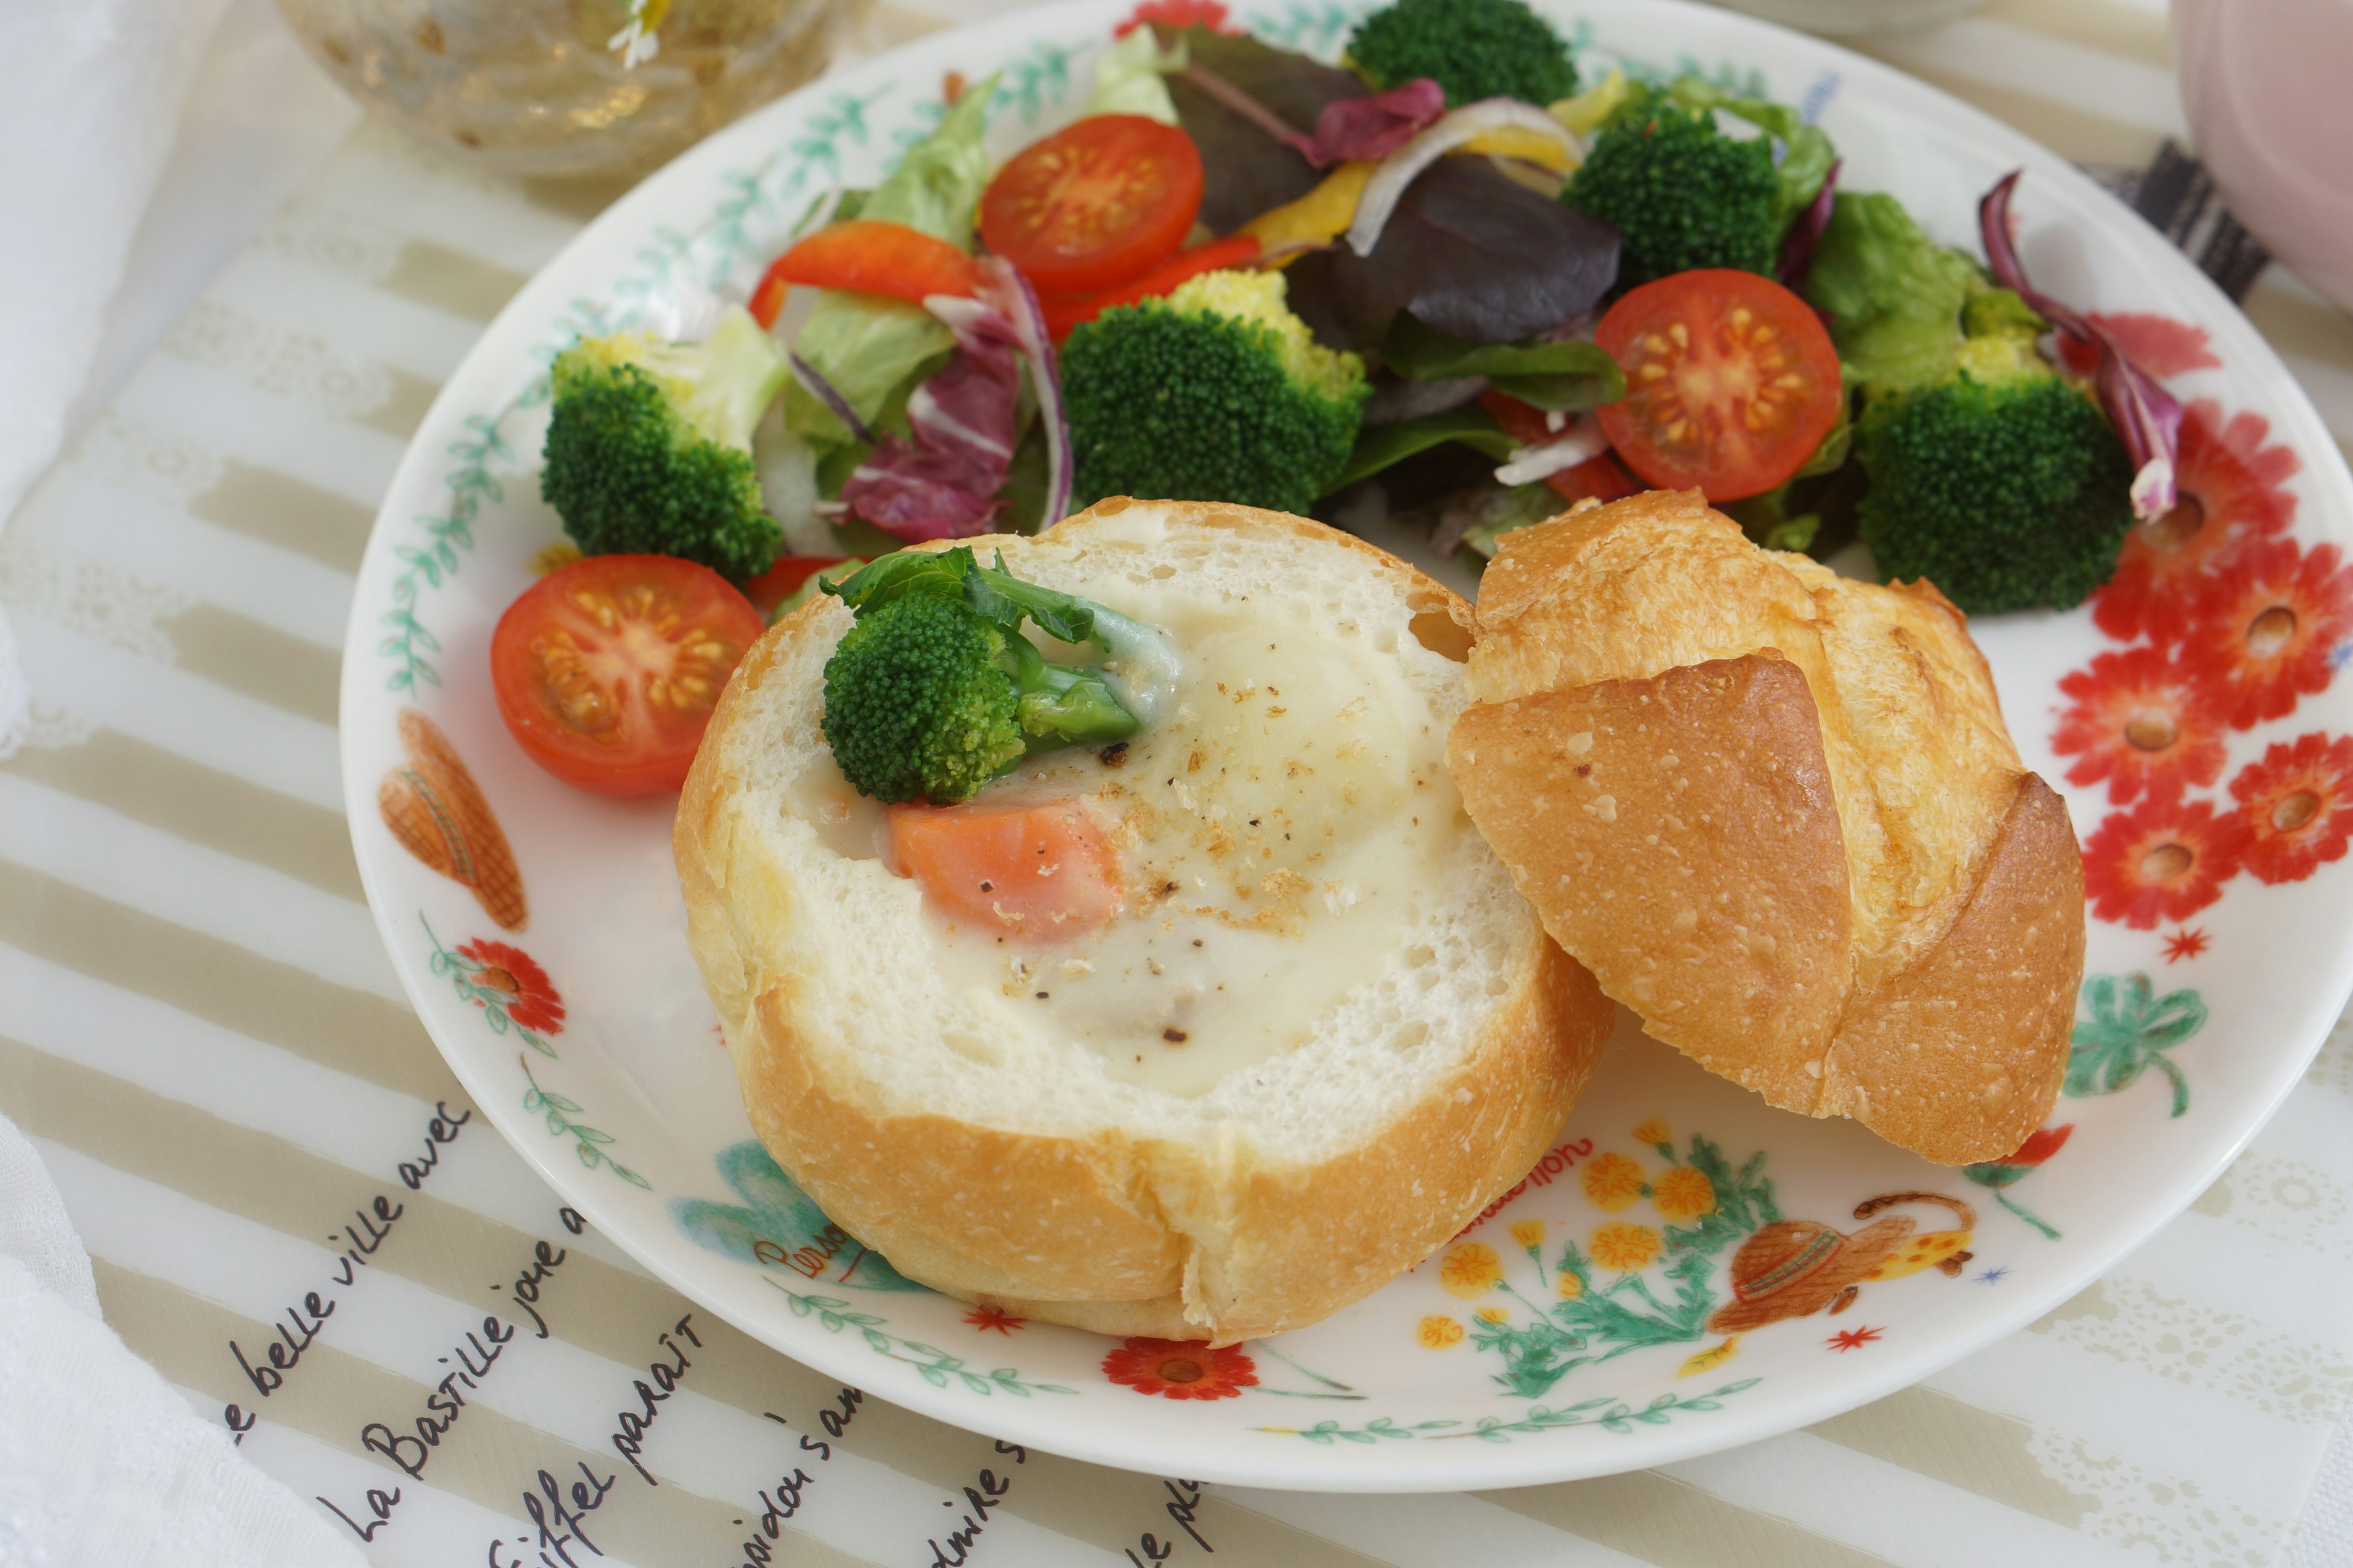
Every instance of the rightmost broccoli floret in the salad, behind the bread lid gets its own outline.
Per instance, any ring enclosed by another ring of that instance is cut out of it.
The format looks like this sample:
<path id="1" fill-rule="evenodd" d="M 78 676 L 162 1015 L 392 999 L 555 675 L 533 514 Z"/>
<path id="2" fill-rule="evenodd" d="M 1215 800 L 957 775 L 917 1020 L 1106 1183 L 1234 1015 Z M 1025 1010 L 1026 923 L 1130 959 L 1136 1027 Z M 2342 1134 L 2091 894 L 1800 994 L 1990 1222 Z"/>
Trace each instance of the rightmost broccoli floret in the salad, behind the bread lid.
<path id="1" fill-rule="evenodd" d="M 2009 353 L 1969 339 L 1951 381 L 1873 395 L 1857 430 L 1880 574 L 1927 578 L 1972 616 L 2080 604 L 2132 527 L 2132 458 L 2106 416 L 2040 360 L 1995 369 Z"/>

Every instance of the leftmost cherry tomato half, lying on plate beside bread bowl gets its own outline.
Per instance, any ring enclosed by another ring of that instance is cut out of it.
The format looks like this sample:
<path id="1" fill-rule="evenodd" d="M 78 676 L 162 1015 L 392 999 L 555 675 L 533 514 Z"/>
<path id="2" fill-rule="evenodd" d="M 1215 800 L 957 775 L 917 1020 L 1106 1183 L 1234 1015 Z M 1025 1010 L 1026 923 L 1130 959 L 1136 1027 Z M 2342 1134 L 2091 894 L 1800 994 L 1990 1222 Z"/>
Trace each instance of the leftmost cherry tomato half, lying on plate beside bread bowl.
<path id="1" fill-rule="evenodd" d="M 668 555 L 591 555 L 499 616 L 489 679 L 532 762 L 598 795 L 659 795 L 694 748 L 760 611 L 718 571 Z"/>

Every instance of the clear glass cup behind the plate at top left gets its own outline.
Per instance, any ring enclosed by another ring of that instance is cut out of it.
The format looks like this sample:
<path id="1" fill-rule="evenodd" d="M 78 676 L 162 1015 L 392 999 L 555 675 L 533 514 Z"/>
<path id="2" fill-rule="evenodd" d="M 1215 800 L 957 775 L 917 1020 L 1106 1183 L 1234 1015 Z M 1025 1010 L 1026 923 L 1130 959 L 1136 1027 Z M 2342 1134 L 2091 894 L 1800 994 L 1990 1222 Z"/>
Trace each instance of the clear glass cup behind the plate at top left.
<path id="1" fill-rule="evenodd" d="M 569 179 L 652 169 L 807 82 L 864 2 L 278 0 L 278 9 L 369 110 L 506 174 Z"/>

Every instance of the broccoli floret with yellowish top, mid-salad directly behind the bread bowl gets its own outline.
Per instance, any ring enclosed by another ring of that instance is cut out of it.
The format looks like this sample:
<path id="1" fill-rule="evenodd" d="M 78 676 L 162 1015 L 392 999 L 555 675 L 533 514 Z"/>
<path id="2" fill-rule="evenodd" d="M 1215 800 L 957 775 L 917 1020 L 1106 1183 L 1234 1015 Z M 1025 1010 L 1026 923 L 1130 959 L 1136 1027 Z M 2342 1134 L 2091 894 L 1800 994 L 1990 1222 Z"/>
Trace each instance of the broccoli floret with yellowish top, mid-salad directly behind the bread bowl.
<path id="1" fill-rule="evenodd" d="M 1306 512 L 1355 447 L 1365 362 L 1282 299 L 1282 273 L 1205 273 L 1080 324 L 1061 357 L 1080 501 Z"/>

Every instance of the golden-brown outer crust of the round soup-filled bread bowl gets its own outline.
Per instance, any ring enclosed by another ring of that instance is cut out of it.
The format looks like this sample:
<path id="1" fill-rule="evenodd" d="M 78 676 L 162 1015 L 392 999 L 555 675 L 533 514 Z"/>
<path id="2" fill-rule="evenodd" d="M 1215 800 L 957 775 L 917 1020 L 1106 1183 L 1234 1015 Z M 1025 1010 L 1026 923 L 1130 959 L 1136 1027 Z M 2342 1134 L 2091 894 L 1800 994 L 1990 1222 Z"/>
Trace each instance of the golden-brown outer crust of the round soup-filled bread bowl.
<path id="1" fill-rule="evenodd" d="M 1085 531 L 1129 503 L 1104 501 Z M 1158 505 L 1158 503 L 1155 503 Z M 1311 538 L 1367 552 L 1445 644 L 1459 599 L 1322 524 L 1233 505 L 1174 505 L 1188 527 Z M 979 550 L 1012 538 L 960 541 Z M 1614 1018 L 1600 985 L 1529 912 L 1459 1065 L 1386 1126 L 1313 1164 L 1238 1138 L 1085 1138 L 991 1126 L 955 1107 L 889 1107 L 809 1037 L 802 980 L 769 961 L 807 910 L 791 877 L 739 830 L 736 745 L 767 682 L 814 682 L 833 635 L 812 611 L 746 656 L 680 799 L 675 858 L 689 940 L 725 1025 L 753 1131 L 849 1234 L 922 1284 L 1021 1316 L 1104 1333 L 1231 1345 L 1329 1316 L 1461 1229 L 1520 1180 L 1567 1119 Z"/>

